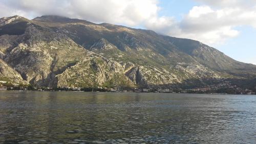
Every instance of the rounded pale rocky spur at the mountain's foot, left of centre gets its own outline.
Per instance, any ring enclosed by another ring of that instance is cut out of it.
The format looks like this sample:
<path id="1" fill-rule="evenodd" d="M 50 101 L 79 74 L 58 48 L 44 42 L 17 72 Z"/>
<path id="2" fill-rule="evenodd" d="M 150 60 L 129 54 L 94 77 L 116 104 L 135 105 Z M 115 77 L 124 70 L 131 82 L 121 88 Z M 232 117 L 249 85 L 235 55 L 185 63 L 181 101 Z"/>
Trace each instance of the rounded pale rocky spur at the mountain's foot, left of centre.
<path id="1" fill-rule="evenodd" d="M 68 87 L 134 87 L 132 81 L 123 75 L 122 66 L 116 61 L 105 61 L 91 57 L 57 75 L 58 86 Z"/>

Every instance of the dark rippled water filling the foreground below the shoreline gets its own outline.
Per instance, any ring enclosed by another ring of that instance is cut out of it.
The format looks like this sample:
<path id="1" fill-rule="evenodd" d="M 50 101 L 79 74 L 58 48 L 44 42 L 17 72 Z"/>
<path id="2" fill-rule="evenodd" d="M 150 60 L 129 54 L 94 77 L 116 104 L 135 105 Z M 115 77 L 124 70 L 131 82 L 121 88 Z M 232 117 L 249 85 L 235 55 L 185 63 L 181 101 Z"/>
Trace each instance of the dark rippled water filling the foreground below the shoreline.
<path id="1" fill-rule="evenodd" d="M 256 143 L 256 96 L 0 92 L 0 143 Z"/>

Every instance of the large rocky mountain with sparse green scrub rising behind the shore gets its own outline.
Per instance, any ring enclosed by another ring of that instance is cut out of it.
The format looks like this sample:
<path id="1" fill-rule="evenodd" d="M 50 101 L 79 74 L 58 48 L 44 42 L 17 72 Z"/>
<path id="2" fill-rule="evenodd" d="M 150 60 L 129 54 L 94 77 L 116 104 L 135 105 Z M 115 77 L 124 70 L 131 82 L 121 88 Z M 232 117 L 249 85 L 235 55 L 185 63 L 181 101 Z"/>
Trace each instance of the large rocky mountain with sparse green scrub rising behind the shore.
<path id="1" fill-rule="evenodd" d="M 0 58 L 0 80 L 37 87 L 196 87 L 256 77 L 255 65 L 196 40 L 53 15 L 1 18 Z"/>

